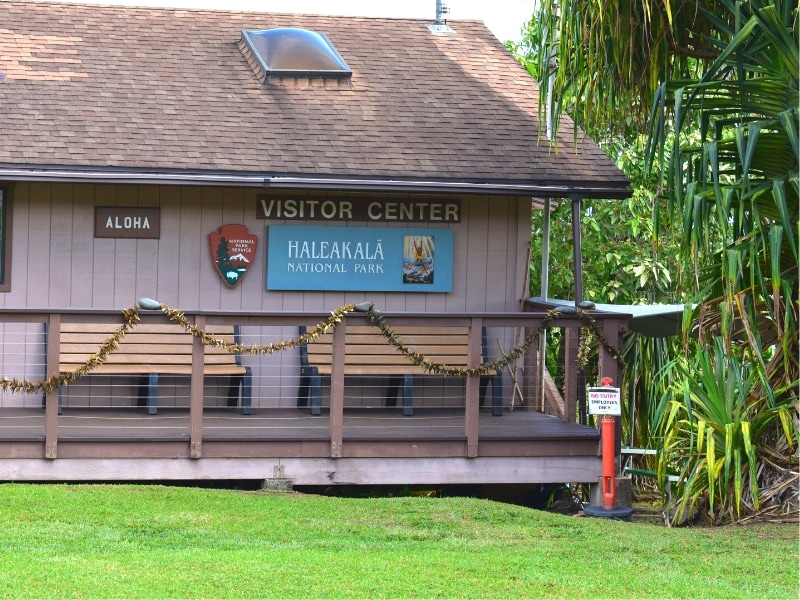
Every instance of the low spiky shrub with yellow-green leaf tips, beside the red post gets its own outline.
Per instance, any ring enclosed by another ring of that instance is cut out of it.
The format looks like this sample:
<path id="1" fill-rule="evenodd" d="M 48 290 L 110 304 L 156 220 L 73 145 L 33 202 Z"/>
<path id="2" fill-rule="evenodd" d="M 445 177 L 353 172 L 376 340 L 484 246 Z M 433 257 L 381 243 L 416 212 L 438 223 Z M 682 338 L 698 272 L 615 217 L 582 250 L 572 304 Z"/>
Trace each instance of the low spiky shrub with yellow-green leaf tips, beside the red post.
<path id="1" fill-rule="evenodd" d="M 727 352 L 720 338 L 673 368 L 678 376 L 665 398 L 658 462 L 662 489 L 669 472 L 681 478 L 673 522 L 695 511 L 712 522 L 735 521 L 745 506 L 758 511 L 758 448 L 776 430 L 796 443 L 793 395 L 770 389 L 763 371 Z"/>

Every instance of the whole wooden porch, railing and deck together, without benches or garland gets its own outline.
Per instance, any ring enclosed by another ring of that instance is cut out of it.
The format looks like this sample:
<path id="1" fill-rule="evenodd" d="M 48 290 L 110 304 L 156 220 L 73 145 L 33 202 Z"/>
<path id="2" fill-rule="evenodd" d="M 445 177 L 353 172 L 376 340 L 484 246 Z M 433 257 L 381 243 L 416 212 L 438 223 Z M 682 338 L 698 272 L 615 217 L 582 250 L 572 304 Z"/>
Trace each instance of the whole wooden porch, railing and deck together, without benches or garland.
<path id="1" fill-rule="evenodd" d="M 264 328 L 277 328 L 275 335 L 285 338 L 298 325 L 309 325 L 325 316 L 204 314 L 189 318 L 201 328 L 245 325 L 254 339 L 263 342 Z M 6 325 L 52 324 L 58 319 L 119 320 L 119 315 L 81 311 L 57 315 L 0 313 L 0 317 Z M 160 313 L 143 313 L 142 317 L 143 321 L 165 318 Z M 386 315 L 390 325 L 413 322 L 440 327 L 449 322 L 478 332 L 489 327 L 493 335 L 506 341 L 506 349 L 518 339 L 520 328 L 534 331 L 547 318 L 545 313 Z M 601 322 L 607 335 L 620 334 L 622 321 L 618 315 L 603 319 L 598 314 L 593 318 Z M 560 327 L 575 331 L 582 325 L 574 313 L 560 315 L 557 320 Z M 336 327 L 334 352 L 344 339 L 348 322 L 363 325 L 364 318 L 353 314 Z M 28 331 L 30 325 L 23 329 Z M 5 328 L 6 342 L 12 330 Z M 30 333 L 25 335 L 30 337 Z M 52 349 L 58 340 L 53 337 L 41 349 L 48 365 L 57 364 Z M 471 339 L 475 347 L 470 352 L 478 361 L 480 335 Z M 202 361 L 203 344 L 196 343 L 195 351 L 195 359 Z M 375 398 L 365 400 L 366 382 L 345 382 L 337 372 L 341 365 L 337 367 L 336 361 L 322 414 L 312 416 L 308 407 L 297 406 L 297 356 L 279 354 L 284 356 L 253 358 L 250 415 L 215 404 L 216 392 L 209 390 L 208 384 L 204 386 L 200 368 L 187 378 L 185 405 L 176 393 L 175 406 L 160 404 L 157 415 L 136 406 L 130 390 L 122 391 L 132 384 L 117 388 L 81 380 L 80 385 L 89 390 L 99 387 L 100 394 L 65 396 L 61 414 L 57 390 L 48 392 L 44 403 L 41 395 L 7 398 L 9 393 L 4 392 L 0 404 L 0 480 L 287 478 L 294 485 L 312 486 L 444 485 L 594 482 L 600 475 L 599 432 L 575 422 L 574 401 L 565 398 L 566 408 L 561 407 L 560 416 L 541 412 L 547 403 L 536 399 L 533 351 L 515 367 L 527 400 L 512 402 L 513 386 L 506 385 L 501 416 L 492 414 L 491 402 L 480 406 L 477 377 L 442 378 L 448 381 L 447 387 L 428 386 L 419 402 L 415 398 L 414 415 L 404 416 L 402 407 L 384 407 Z M 616 377 L 616 362 L 602 349 L 600 354 L 601 369 Z M 48 368 L 47 372 L 52 370 Z M 452 381 L 458 381 L 457 386 Z M 576 385 L 568 382 L 566 389 L 575 390 Z M 350 391 L 346 392 L 354 387 L 355 395 L 364 397 L 354 399 Z M 376 397 L 382 400 L 380 394 Z M 555 409 L 550 412 L 558 413 Z"/>

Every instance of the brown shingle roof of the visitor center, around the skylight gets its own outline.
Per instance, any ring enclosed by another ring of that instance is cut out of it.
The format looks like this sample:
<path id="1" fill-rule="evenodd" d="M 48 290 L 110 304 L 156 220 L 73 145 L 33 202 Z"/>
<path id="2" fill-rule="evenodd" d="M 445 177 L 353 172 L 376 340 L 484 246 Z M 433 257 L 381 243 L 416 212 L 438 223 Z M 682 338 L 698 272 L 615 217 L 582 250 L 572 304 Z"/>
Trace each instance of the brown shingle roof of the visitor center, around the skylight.
<path id="1" fill-rule="evenodd" d="M 627 188 L 570 124 L 550 147 L 482 23 L 449 24 L 0 2 L 0 164 Z M 287 26 L 323 32 L 349 84 L 260 82 L 241 32 Z"/>

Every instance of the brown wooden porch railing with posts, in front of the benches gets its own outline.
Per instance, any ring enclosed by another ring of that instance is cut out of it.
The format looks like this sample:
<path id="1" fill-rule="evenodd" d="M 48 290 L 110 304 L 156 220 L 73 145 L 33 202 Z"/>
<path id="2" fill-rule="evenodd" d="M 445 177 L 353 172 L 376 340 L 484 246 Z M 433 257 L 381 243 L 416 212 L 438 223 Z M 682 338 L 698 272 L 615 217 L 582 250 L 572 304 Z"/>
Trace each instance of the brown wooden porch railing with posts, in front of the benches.
<path id="1" fill-rule="evenodd" d="M 564 378 L 564 405 L 562 408 L 563 414 L 561 418 L 567 422 L 575 422 L 577 417 L 577 410 L 575 398 L 578 396 L 578 365 L 577 365 L 577 352 L 578 352 L 578 332 L 581 328 L 585 328 L 587 323 L 594 323 L 597 331 L 601 332 L 608 345 L 621 347 L 621 335 L 625 323 L 624 315 L 600 313 L 591 311 L 587 314 L 579 314 L 575 312 L 561 311 L 555 317 L 551 312 L 541 310 L 531 310 L 528 312 L 520 313 L 407 313 L 407 312 L 385 312 L 383 313 L 385 322 L 389 327 L 401 326 L 430 326 L 430 327 L 443 327 L 443 326 L 460 326 L 469 327 L 471 334 L 469 337 L 469 357 L 470 366 L 478 367 L 481 360 L 481 331 L 482 328 L 487 328 L 490 332 L 490 338 L 502 339 L 502 347 L 506 354 L 520 340 L 525 339 L 527 336 L 534 335 L 537 331 L 548 325 L 550 327 L 564 328 L 570 332 L 567 339 L 567 351 L 565 361 L 565 378 Z M 161 311 L 142 310 L 139 313 L 142 322 L 164 322 L 166 316 Z M 282 313 L 263 313 L 263 312 L 222 312 L 222 311 L 199 311 L 186 313 L 186 319 L 192 323 L 197 329 L 205 330 L 206 328 L 213 328 L 215 325 L 238 325 L 245 330 L 260 331 L 263 328 L 273 328 L 279 332 L 296 332 L 299 326 L 304 325 L 313 327 L 317 323 L 325 320 L 330 316 L 328 312 L 282 312 Z M 589 321 L 587 321 L 587 317 Z M 97 311 L 97 310 L 55 310 L 55 311 L 37 311 L 37 310 L 2 310 L 0 311 L 0 327 L 3 328 L 4 336 L 6 330 L 24 326 L 25 324 L 41 324 L 42 326 L 42 344 L 41 348 L 36 351 L 22 350 L 30 355 L 31 360 L 37 354 L 44 355 L 44 365 L 42 374 L 46 377 L 48 375 L 58 374 L 58 352 L 59 352 L 59 338 L 58 324 L 62 321 L 73 322 L 108 322 L 122 324 L 123 318 L 118 311 Z M 345 414 L 345 377 L 344 377 L 344 344 L 346 328 L 352 324 L 364 325 L 366 317 L 364 314 L 351 313 L 344 317 L 341 323 L 333 329 L 333 364 L 332 374 L 330 377 L 329 388 L 329 445 L 330 457 L 336 458 L 342 456 L 343 437 L 344 437 L 344 414 Z M 261 329 L 260 329 L 261 328 Z M 34 327 L 35 329 L 35 327 Z M 47 331 L 46 340 L 44 339 L 44 331 Z M 30 336 L 30 333 L 26 335 Z M 297 334 L 295 333 L 294 336 Z M 292 336 L 292 337 L 294 337 Z M 5 340 L 5 337 L 3 338 Z M 5 346 L 7 342 L 3 342 Z M 250 339 L 246 343 L 258 344 L 258 340 Z M 192 458 L 200 458 L 202 456 L 202 443 L 203 443 L 203 415 L 204 415 L 204 377 L 203 377 L 203 354 L 204 345 L 199 338 L 195 338 L 193 342 L 192 351 L 192 374 L 189 383 L 189 443 L 190 443 L 190 456 Z M 17 351 L 12 351 L 18 354 Z M 542 386 L 539 385 L 538 375 L 538 355 L 536 344 L 533 344 L 525 353 L 523 358 L 516 366 L 511 366 L 514 370 L 516 377 L 516 384 L 525 398 L 530 399 L 522 406 L 517 406 L 516 410 L 537 410 L 542 411 L 547 408 L 547 403 L 542 402 L 540 393 Z M 498 348 L 493 348 L 490 355 L 491 360 L 501 359 L 503 353 Z M 19 358 L 19 357 L 17 357 Z M 28 360 L 26 358 L 25 360 Z M 40 359 L 41 360 L 41 359 Z M 17 366 L 14 366 L 14 365 Z M 15 376 L 14 370 L 17 373 L 19 370 L 19 361 L 9 360 L 9 356 L 3 354 L 3 359 L 0 362 L 4 372 L 0 372 L 0 376 L 12 378 Z M 601 345 L 599 347 L 599 373 L 601 376 L 610 376 L 615 381 L 619 380 L 620 367 L 617 363 L 612 352 L 608 347 Z M 11 369 L 12 372 L 8 372 Z M 289 384 L 283 387 L 292 387 L 296 384 L 296 377 L 299 374 L 299 360 L 296 355 L 284 357 L 280 363 L 280 372 L 285 373 L 286 381 Z M 35 370 L 35 369 L 34 369 Z M 28 369 L 25 372 L 30 372 Z M 514 394 L 514 385 L 511 381 L 509 368 L 503 368 L 503 376 L 507 382 L 504 385 L 505 398 L 504 405 L 508 408 L 514 408 L 511 405 L 512 394 Z M 30 379 L 30 378 L 29 378 Z M 283 380 L 281 380 L 283 381 Z M 283 390 L 285 397 L 296 397 L 296 388 L 291 390 Z M 8 391 L 3 392 L 4 395 L 9 394 Z M 264 401 L 258 397 L 257 393 L 253 395 L 253 406 L 257 407 L 260 402 Z M 464 401 L 463 401 L 463 417 L 464 417 L 464 436 L 466 439 L 466 456 L 474 457 L 478 453 L 479 442 L 479 378 L 468 377 L 464 387 Z M 7 406 L 8 403 L 0 404 L 0 408 Z M 30 406 L 30 401 L 27 401 Z M 554 412 L 554 411 L 550 411 Z M 59 442 L 59 390 L 51 389 L 45 394 L 44 399 L 44 438 L 45 438 L 45 457 L 56 458 L 58 456 L 58 442 Z M 243 417 L 247 418 L 247 417 Z M 413 418 L 413 417 L 412 417 Z M 493 417 L 486 417 L 493 418 Z M 503 418 L 502 416 L 496 418 Z"/>

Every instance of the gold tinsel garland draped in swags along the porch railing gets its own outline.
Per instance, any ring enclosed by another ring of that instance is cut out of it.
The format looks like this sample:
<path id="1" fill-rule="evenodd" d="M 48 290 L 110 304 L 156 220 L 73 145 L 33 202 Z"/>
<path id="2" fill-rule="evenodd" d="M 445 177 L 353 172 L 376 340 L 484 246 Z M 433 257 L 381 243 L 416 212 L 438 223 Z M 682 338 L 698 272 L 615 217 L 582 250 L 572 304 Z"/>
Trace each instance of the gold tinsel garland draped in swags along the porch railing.
<path id="1" fill-rule="evenodd" d="M 166 315 L 167 319 L 183 327 L 185 331 L 192 334 L 194 337 L 200 339 L 204 345 L 213 347 L 222 347 L 231 354 L 273 354 L 275 352 L 282 352 L 297 348 L 302 344 L 312 344 L 320 336 L 333 331 L 336 326 L 342 322 L 342 319 L 349 313 L 358 311 L 367 313 L 367 320 L 370 325 L 377 327 L 381 335 L 386 339 L 387 343 L 395 348 L 398 352 L 403 354 L 408 361 L 423 369 L 431 375 L 442 376 L 459 376 L 459 377 L 480 377 L 489 373 L 495 373 L 498 370 L 504 369 L 507 365 L 515 363 L 520 357 L 528 351 L 528 349 L 539 339 L 540 335 L 549 327 L 553 325 L 562 313 L 558 309 L 551 309 L 547 311 L 545 318 L 542 320 L 536 331 L 528 335 L 522 343 L 518 344 L 508 352 L 502 353 L 500 358 L 495 361 L 484 363 L 480 367 L 463 368 L 452 367 L 445 364 L 434 363 L 428 360 L 424 354 L 416 352 L 406 346 L 400 338 L 395 334 L 391 327 L 386 324 L 383 314 L 375 308 L 371 302 L 362 302 L 360 304 L 346 304 L 334 311 L 331 311 L 330 316 L 324 321 L 320 321 L 313 329 L 306 333 L 290 339 L 282 340 L 271 344 L 252 344 L 244 345 L 241 343 L 231 343 L 223 339 L 216 338 L 214 334 L 207 333 L 194 324 L 192 324 L 186 315 L 180 310 L 170 308 L 163 303 L 149 298 L 142 298 L 134 306 L 122 311 L 124 322 L 114 333 L 104 341 L 97 352 L 92 354 L 86 359 L 86 362 L 69 373 L 53 374 L 46 379 L 40 381 L 29 381 L 27 379 L 9 379 L 3 377 L 0 380 L 0 389 L 3 391 L 11 391 L 15 393 L 34 394 L 46 393 L 53 391 L 62 386 L 68 386 L 79 377 L 88 375 L 97 367 L 106 362 L 108 357 L 113 354 L 118 348 L 120 341 L 126 334 L 130 333 L 141 322 L 139 311 L 144 310 L 160 310 Z M 613 346 L 603 335 L 602 329 L 597 325 L 595 320 L 589 315 L 589 312 L 583 308 L 576 308 L 576 314 L 580 319 L 583 327 L 581 328 L 581 342 L 578 350 L 578 362 L 581 368 L 586 367 L 588 362 L 588 345 L 591 341 L 592 335 L 597 338 L 604 348 L 620 363 L 622 364 L 622 354 L 618 348 Z"/>

